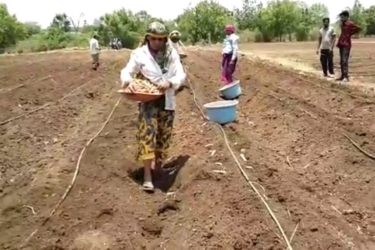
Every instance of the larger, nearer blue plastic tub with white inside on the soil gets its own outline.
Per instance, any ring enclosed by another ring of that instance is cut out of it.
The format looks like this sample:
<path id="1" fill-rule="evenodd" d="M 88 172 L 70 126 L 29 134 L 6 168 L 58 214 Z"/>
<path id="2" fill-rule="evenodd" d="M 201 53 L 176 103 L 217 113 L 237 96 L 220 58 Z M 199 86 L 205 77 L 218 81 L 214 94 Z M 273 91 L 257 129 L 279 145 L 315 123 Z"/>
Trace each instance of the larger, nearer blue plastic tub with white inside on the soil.
<path id="1" fill-rule="evenodd" d="M 211 122 L 227 124 L 237 119 L 238 101 L 219 101 L 205 104 L 208 118 Z"/>

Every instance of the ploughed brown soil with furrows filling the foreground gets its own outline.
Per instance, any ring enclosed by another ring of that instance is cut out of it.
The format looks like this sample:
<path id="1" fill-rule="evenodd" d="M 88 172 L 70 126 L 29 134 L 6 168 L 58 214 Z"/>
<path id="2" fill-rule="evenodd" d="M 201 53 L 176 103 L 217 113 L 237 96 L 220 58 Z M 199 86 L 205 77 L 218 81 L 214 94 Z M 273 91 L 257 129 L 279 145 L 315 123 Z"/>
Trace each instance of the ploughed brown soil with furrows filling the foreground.
<path id="1" fill-rule="evenodd" d="M 188 76 L 198 102 L 220 100 L 220 54 L 189 52 Z M 6 79 L 2 89 L 46 75 L 57 83 L 49 79 L 0 92 L 0 121 L 93 80 L 61 103 L 0 126 L 0 248 L 16 249 L 39 228 L 26 250 L 285 250 L 221 132 L 202 126 L 205 121 L 187 89 L 177 96 L 172 158 L 157 183 L 161 191 L 149 195 L 140 188 L 142 168 L 133 159 L 137 109 L 123 99 L 87 147 L 71 193 L 40 227 L 70 184 L 81 149 L 117 102 L 119 72 L 128 56 L 124 51 L 104 53 L 97 72 L 89 70 L 89 56 L 81 52 L 0 58 L 9 67 L 0 69 Z M 224 126 L 229 143 L 237 156 L 245 152 L 248 162 L 241 163 L 253 167 L 246 171 L 288 237 L 299 223 L 294 250 L 373 250 L 374 160 L 357 150 L 343 131 L 374 152 L 374 96 L 333 86 L 371 100 L 353 98 L 291 73 L 264 61 L 241 60 L 236 75 L 244 94 L 238 121 Z M 217 152 L 211 156 L 210 150 Z M 227 174 L 212 172 L 221 168 Z M 32 206 L 36 215 L 23 206 Z"/>

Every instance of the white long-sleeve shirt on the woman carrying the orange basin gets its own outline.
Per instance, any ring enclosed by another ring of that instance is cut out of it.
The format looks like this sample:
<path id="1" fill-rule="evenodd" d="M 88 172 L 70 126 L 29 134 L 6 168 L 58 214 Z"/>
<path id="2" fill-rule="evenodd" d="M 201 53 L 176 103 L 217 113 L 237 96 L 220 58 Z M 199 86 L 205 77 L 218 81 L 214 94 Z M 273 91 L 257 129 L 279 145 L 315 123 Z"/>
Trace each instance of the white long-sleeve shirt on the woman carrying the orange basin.
<path id="1" fill-rule="evenodd" d="M 139 72 L 151 83 L 156 85 L 165 81 L 172 83 L 172 87 L 168 88 L 166 91 L 166 109 L 175 110 L 175 90 L 184 83 L 186 78 L 177 50 L 172 48 L 169 67 L 167 72 L 163 74 L 162 69 L 152 57 L 148 46 L 144 45 L 137 48 L 131 53 L 130 60 L 126 67 L 121 70 L 121 81 L 123 83 L 130 83 L 133 81 L 133 75 Z"/>

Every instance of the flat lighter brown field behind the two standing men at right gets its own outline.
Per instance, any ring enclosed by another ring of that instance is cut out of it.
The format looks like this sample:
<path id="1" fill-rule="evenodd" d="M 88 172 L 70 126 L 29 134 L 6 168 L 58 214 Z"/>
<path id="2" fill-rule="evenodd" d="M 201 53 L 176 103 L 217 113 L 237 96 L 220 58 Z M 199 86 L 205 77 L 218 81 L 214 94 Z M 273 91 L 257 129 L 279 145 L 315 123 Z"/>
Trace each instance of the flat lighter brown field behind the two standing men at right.
<path id="1" fill-rule="evenodd" d="M 317 42 L 248 43 L 241 45 L 241 50 L 262 59 L 322 75 L 319 56 L 315 54 L 316 47 Z M 338 48 L 335 48 L 333 53 L 335 73 L 339 76 L 341 71 Z M 373 83 L 370 87 L 374 87 L 375 39 L 353 39 L 349 71 L 353 82 L 351 84 Z"/>

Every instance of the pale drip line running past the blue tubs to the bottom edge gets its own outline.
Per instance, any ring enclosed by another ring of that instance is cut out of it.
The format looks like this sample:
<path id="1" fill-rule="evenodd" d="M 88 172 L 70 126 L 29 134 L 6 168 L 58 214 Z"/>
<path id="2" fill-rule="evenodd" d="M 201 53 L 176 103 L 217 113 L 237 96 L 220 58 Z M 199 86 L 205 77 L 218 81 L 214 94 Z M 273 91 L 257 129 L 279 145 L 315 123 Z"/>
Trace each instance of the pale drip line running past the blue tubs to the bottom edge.
<path id="1" fill-rule="evenodd" d="M 186 67 L 185 68 L 185 72 L 187 72 L 187 69 Z M 187 79 L 187 82 L 189 83 L 189 87 L 190 87 L 190 90 L 191 92 L 193 93 L 193 101 L 194 101 L 194 104 L 196 105 L 196 107 L 199 109 L 199 111 L 201 112 L 202 114 L 202 117 L 209 121 L 209 119 L 207 118 L 207 116 L 205 115 L 205 113 L 203 112 L 202 108 L 200 107 L 200 105 L 198 104 L 197 102 L 197 99 L 196 99 L 196 95 L 195 95 L 195 90 L 194 88 L 192 87 L 192 84 L 190 82 L 190 79 L 188 77 L 186 77 Z M 232 155 L 234 161 L 236 162 L 238 168 L 240 169 L 241 173 L 242 173 L 242 176 L 245 178 L 245 180 L 249 183 L 250 187 L 252 188 L 252 190 L 259 196 L 259 198 L 261 199 L 262 203 L 264 204 L 264 206 L 267 208 L 267 211 L 269 212 L 269 214 L 271 215 L 271 218 L 273 219 L 273 221 L 276 223 L 278 229 L 280 230 L 281 234 L 283 235 L 283 238 L 284 238 L 284 241 L 286 242 L 287 246 L 288 246 L 288 249 L 289 250 L 293 250 L 292 246 L 291 246 L 291 243 L 290 243 L 290 240 L 288 239 L 288 237 L 286 236 L 285 232 L 284 232 L 284 229 L 282 228 L 282 226 L 280 225 L 278 219 L 276 218 L 275 214 L 273 213 L 272 209 L 270 208 L 270 206 L 268 205 L 268 203 L 263 199 L 262 195 L 260 194 L 260 192 L 258 191 L 258 189 L 253 185 L 253 183 L 250 181 L 249 179 L 249 176 L 247 175 L 247 173 L 245 172 L 244 168 L 241 166 L 240 162 L 238 161 L 237 157 L 235 156 L 233 150 L 231 149 L 230 145 L 229 145 L 229 141 L 227 139 L 227 135 L 225 133 L 225 130 L 223 129 L 223 127 L 218 124 L 218 123 L 213 123 L 213 122 L 208 122 L 210 124 L 213 124 L 213 125 L 217 125 L 219 127 L 219 129 L 221 130 L 221 132 L 223 133 L 223 137 L 224 137 L 224 141 L 225 141 L 225 144 L 230 152 L 230 154 Z"/>

